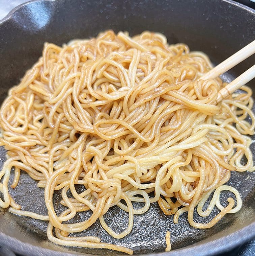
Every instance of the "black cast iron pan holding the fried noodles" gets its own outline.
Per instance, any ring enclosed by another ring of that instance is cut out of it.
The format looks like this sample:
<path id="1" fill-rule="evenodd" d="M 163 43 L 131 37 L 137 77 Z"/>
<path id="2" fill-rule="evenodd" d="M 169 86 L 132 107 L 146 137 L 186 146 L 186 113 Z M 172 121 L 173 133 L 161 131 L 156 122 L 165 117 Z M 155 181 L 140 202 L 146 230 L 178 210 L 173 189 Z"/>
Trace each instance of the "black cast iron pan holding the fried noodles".
<path id="1" fill-rule="evenodd" d="M 61 45 L 70 39 L 96 36 L 110 28 L 115 32 L 127 30 L 131 35 L 143 30 L 162 32 L 169 43 L 187 43 L 191 50 L 204 51 L 217 64 L 255 39 L 255 12 L 228 0 L 39 0 L 23 4 L 0 23 L 0 101 L 37 61 L 45 41 Z M 232 80 L 254 62 L 255 58 L 250 57 L 223 79 Z M 255 89 L 254 80 L 249 86 Z M 251 149 L 255 157 L 255 143 Z M 4 156 L 5 151 L 1 148 L 1 165 Z M 148 212 L 135 216 L 132 232 L 120 240 L 111 237 L 98 221 L 83 235 L 95 235 L 104 242 L 129 247 L 135 254 L 212 255 L 230 250 L 255 236 L 255 173 L 232 172 L 228 184 L 240 192 L 243 208 L 238 213 L 227 214 L 213 228 L 201 230 L 191 227 L 185 213 L 180 216 L 178 224 L 173 224 L 173 216 L 165 216 L 154 203 Z M 38 188 L 26 173 L 22 173 L 20 184 L 16 189 L 10 189 L 10 193 L 24 210 L 47 214 L 43 189 Z M 222 201 L 226 202 L 227 197 L 227 194 L 222 195 Z M 56 209 L 61 210 L 59 194 L 55 194 L 54 200 Z M 207 220 L 216 214 L 217 209 Z M 76 220 L 85 218 L 88 214 L 81 213 Z M 117 207 L 111 208 L 105 216 L 106 223 L 117 232 L 125 228 L 127 219 L 128 215 Z M 201 218 L 195 214 L 195 220 L 201 221 Z M 16 253 L 118 254 L 107 250 L 57 246 L 48 241 L 46 227 L 46 222 L 0 209 L 1 244 Z M 170 253 L 164 252 L 167 230 L 171 231 L 173 251 Z"/>

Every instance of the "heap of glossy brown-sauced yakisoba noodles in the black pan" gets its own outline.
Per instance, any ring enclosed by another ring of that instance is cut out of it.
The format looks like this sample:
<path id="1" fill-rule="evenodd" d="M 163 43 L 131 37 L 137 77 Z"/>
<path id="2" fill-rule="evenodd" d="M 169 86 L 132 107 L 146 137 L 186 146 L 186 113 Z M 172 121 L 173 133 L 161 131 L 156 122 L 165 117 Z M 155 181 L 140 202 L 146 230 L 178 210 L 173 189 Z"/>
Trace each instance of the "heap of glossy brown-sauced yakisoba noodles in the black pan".
<path id="1" fill-rule="evenodd" d="M 46 43 L 42 57 L 10 89 L 1 107 L 0 141 L 7 160 L 0 176 L 0 206 L 49 220 L 48 237 L 59 245 L 129 254 L 133 251 L 98 237 L 69 233 L 84 231 L 99 218 L 111 236 L 122 238 L 132 230 L 134 215 L 146 212 L 153 202 L 166 215 L 174 214 L 175 223 L 188 211 L 196 228 L 209 228 L 226 213 L 238 211 L 238 191 L 222 185 L 230 171 L 254 170 L 246 136 L 254 134 L 252 91 L 243 86 L 242 93 L 216 104 L 225 84 L 220 78 L 199 80 L 211 68 L 204 53 L 190 52 L 185 44 L 169 45 L 162 34 L 148 31 L 133 38 L 106 31 L 63 47 Z M 245 165 L 240 162 L 244 155 Z M 15 188 L 21 170 L 45 188 L 48 216 L 21 211 L 9 195 L 10 172 L 15 172 Z M 75 184 L 84 191 L 78 193 Z M 66 207 L 60 215 L 54 210 L 56 190 L 61 190 Z M 235 194 L 235 207 L 233 198 L 226 207 L 220 204 L 222 190 Z M 133 202 L 144 206 L 134 209 Z M 114 205 L 129 213 L 128 228 L 120 234 L 104 221 Z M 209 223 L 196 223 L 197 205 L 201 216 L 215 206 L 221 212 Z M 88 220 L 68 222 L 88 210 L 93 212 Z"/>

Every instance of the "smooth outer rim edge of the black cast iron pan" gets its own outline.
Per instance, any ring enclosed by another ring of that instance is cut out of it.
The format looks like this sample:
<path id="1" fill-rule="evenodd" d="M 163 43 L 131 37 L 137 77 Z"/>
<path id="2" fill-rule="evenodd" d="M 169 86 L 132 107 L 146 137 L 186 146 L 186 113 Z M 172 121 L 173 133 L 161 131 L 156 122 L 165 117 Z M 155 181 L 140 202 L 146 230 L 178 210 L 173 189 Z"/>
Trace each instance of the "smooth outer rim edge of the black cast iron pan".
<path id="1" fill-rule="evenodd" d="M 13 15 L 19 9 L 23 8 L 24 6 L 31 4 L 31 3 L 42 3 L 42 2 L 57 2 L 61 0 L 31 0 L 25 3 L 22 3 L 15 8 L 13 8 L 3 19 L 0 20 L 0 26 L 3 26 L 4 23 L 13 19 Z M 241 4 L 239 2 L 234 2 L 233 0 L 218 0 L 221 2 L 226 2 L 231 5 L 235 5 L 236 7 L 242 8 L 249 13 L 252 13 L 255 17 L 255 10 Z M 187 247 L 182 247 L 180 249 L 176 249 L 170 252 L 159 252 L 159 253 L 152 253 L 146 254 L 150 256 L 166 256 L 166 255 L 187 255 L 191 253 L 192 255 L 216 255 L 222 252 L 227 252 L 228 250 L 233 249 L 236 246 L 242 245 L 248 240 L 255 238 L 255 221 L 241 229 L 238 229 L 234 232 L 231 232 L 228 235 L 223 235 L 220 238 L 208 241 L 208 238 L 205 238 L 199 242 L 196 242 L 192 245 Z M 16 253 L 21 253 L 25 255 L 53 255 L 53 256 L 73 256 L 73 255 L 87 255 L 90 256 L 92 254 L 86 253 L 78 253 L 75 251 L 70 251 L 72 247 L 62 247 L 66 251 L 56 251 L 54 249 L 48 249 L 37 245 L 32 245 L 31 243 L 23 242 L 15 237 L 6 235 L 5 233 L 0 231 L 0 241 L 2 242 L 2 246 L 6 246 L 9 249 L 13 250 Z M 50 242 L 50 241 L 49 241 Z M 61 247 L 59 247 L 61 248 Z M 206 250 L 204 250 L 206 249 Z M 142 254 L 140 256 L 143 256 Z"/>

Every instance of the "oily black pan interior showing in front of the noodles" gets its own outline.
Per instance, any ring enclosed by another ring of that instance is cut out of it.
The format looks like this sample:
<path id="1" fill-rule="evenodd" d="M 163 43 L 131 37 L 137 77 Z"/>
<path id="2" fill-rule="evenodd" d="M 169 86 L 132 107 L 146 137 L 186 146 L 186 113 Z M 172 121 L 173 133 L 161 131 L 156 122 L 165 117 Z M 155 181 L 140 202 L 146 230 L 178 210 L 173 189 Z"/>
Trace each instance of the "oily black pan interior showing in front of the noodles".
<path id="1" fill-rule="evenodd" d="M 231 75 L 224 77 L 224 80 L 231 80 Z M 255 112 L 255 104 L 253 106 L 253 112 Z M 255 135 L 252 138 L 255 139 Z M 255 142 L 251 144 L 253 152 L 253 160 L 255 160 Z M 6 151 L 1 147 L 1 164 L 5 160 Z M 244 160 L 245 161 L 245 160 Z M 255 162 L 255 161 L 254 161 Z M 13 173 L 10 176 L 10 182 L 13 179 Z M 254 221 L 255 207 L 254 207 L 254 187 L 255 187 L 255 172 L 231 172 L 231 178 L 226 183 L 227 185 L 236 188 L 242 197 L 243 207 L 235 214 L 225 215 L 214 227 L 210 229 L 195 229 L 189 225 L 187 220 L 188 213 L 183 213 L 179 217 L 178 224 L 173 223 L 173 215 L 166 216 L 159 208 L 157 203 L 151 204 L 149 210 L 141 215 L 134 216 L 134 226 L 130 234 L 122 239 L 115 239 L 111 237 L 102 227 L 97 220 L 87 230 L 70 234 L 73 236 L 97 236 L 101 238 L 102 242 L 113 243 L 128 247 L 134 250 L 135 254 L 146 254 L 163 252 L 166 247 L 165 235 L 167 231 L 171 231 L 171 244 L 172 250 L 179 249 L 192 245 L 195 242 L 199 242 L 205 238 L 208 238 L 222 230 L 227 228 L 234 228 L 235 225 L 247 225 L 247 221 Z M 77 192 L 82 192 L 83 187 L 76 187 Z M 37 182 L 34 181 L 26 172 L 22 171 L 19 185 L 13 189 L 9 184 L 9 192 L 15 202 L 22 206 L 22 210 L 33 211 L 38 214 L 47 215 L 47 208 L 44 201 L 44 189 L 37 187 Z M 70 193 L 71 195 L 71 193 Z M 69 195 L 69 196 L 70 196 Z M 0 195 L 1 196 L 1 195 Z M 223 191 L 221 193 L 221 202 L 223 206 L 227 205 L 227 199 L 231 196 L 231 192 Z M 211 198 L 211 197 L 210 197 Z M 60 201 L 62 200 L 61 191 L 54 193 L 54 204 L 57 213 L 61 213 L 65 209 Z M 134 208 L 141 208 L 141 203 L 134 202 Z M 208 206 L 205 204 L 205 206 Z M 91 215 L 91 211 L 80 212 L 73 219 L 73 223 L 82 222 L 88 219 Z M 206 223 L 210 221 L 219 213 L 219 210 L 215 207 L 212 213 L 208 217 L 200 217 L 197 212 L 194 213 L 194 220 L 196 222 Z M 2 215 L 2 216 L 1 216 Z M 121 233 L 128 225 L 128 213 L 121 210 L 119 207 L 114 206 L 104 215 L 105 222 L 115 232 Z M 6 210 L 0 210 L 0 218 L 6 221 L 6 225 L 11 222 L 11 227 L 20 229 L 22 231 L 30 232 L 36 238 L 37 242 L 42 247 L 48 247 L 49 241 L 47 239 L 47 223 L 42 220 L 35 220 L 25 216 L 18 216 L 11 214 Z M 89 248 L 72 248 L 73 251 L 89 254 L 108 254 L 109 251 L 103 249 L 89 249 Z M 110 252 L 110 254 L 116 254 L 116 252 Z"/>

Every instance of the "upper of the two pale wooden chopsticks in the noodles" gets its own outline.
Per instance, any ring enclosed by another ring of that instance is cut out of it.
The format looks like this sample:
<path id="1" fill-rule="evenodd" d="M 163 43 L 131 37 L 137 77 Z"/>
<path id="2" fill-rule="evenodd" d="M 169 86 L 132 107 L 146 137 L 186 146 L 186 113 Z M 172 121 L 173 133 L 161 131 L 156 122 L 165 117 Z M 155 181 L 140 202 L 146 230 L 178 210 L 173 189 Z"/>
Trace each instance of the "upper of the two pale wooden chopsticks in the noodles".
<path id="1" fill-rule="evenodd" d="M 205 75 L 201 76 L 199 79 L 207 80 L 207 79 L 214 79 L 226 71 L 230 70 L 240 62 L 244 61 L 252 54 L 255 53 L 255 40 L 250 44 L 246 45 L 241 50 L 234 53 L 232 56 L 228 57 L 225 61 L 217 65 L 215 68 L 207 72 Z"/>

